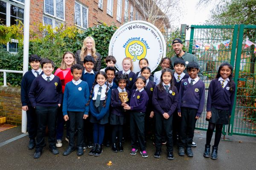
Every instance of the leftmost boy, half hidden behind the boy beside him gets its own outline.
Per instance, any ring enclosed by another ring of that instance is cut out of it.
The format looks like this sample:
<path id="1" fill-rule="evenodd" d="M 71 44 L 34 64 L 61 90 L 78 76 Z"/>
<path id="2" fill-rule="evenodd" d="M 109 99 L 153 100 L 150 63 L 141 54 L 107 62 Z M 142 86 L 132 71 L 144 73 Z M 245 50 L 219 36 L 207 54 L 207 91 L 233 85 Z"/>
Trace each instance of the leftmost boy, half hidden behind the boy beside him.
<path id="1" fill-rule="evenodd" d="M 36 122 L 36 114 L 35 109 L 29 102 L 29 90 L 31 84 L 35 77 L 43 74 L 44 72 L 40 68 L 41 57 L 36 54 L 32 54 L 29 57 L 29 64 L 32 68 L 31 71 L 28 71 L 24 74 L 21 80 L 21 88 L 20 88 L 20 99 L 22 104 L 22 110 L 26 111 L 27 115 L 27 127 L 29 133 L 29 149 L 33 149 L 35 147 L 35 137 L 37 132 L 37 122 Z"/>

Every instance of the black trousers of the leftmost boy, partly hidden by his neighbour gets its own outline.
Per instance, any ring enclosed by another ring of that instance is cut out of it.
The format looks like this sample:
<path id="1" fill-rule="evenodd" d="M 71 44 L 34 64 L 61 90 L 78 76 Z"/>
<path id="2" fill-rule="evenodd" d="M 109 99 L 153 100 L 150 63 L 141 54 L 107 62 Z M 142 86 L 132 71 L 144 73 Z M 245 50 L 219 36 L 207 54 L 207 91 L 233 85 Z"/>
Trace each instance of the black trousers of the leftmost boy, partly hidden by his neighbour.
<path id="1" fill-rule="evenodd" d="M 37 120 L 35 109 L 32 106 L 28 106 L 26 111 L 27 115 L 27 128 L 29 133 L 29 139 L 35 139 L 37 133 Z"/>

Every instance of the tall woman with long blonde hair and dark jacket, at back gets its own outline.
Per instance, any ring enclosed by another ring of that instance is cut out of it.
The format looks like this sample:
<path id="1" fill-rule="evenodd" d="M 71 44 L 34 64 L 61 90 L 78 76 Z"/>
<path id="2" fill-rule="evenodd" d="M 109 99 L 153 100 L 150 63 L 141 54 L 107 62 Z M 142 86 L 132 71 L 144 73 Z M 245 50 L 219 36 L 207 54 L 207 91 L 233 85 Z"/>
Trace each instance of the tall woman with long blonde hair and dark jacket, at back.
<path id="1" fill-rule="evenodd" d="M 90 55 L 95 59 L 93 71 L 99 71 L 101 68 L 101 55 L 96 52 L 95 41 L 93 37 L 86 37 L 83 41 L 83 46 L 81 50 L 76 51 L 75 58 L 76 63 L 83 66 L 84 57 Z"/>

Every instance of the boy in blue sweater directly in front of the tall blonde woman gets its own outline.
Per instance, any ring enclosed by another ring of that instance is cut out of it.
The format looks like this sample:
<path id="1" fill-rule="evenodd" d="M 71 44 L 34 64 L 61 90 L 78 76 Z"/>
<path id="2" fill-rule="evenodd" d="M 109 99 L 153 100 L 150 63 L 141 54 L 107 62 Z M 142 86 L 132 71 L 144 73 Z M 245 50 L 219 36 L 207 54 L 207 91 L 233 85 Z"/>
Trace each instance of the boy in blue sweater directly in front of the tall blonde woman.
<path id="1" fill-rule="evenodd" d="M 84 73 L 82 75 L 82 80 L 87 82 L 89 87 L 89 94 L 93 87 L 93 82 L 95 79 L 96 72 L 93 71 L 95 60 L 92 56 L 87 55 L 84 57 Z M 90 114 L 89 114 L 90 116 Z M 83 149 L 86 147 L 93 147 L 93 125 L 89 119 L 84 120 L 84 144 Z"/>

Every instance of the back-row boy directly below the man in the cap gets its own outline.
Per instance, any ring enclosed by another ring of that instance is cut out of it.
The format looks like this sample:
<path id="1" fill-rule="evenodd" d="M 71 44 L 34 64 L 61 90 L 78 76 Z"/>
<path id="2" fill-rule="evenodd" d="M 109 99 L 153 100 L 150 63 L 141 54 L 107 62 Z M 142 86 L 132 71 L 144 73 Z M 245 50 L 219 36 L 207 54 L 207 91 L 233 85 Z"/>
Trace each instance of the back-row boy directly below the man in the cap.
<path id="1" fill-rule="evenodd" d="M 189 78 L 188 74 L 185 74 L 183 71 L 185 70 L 185 61 L 183 59 L 175 59 L 174 62 L 174 74 L 173 74 L 173 84 L 177 88 L 177 91 L 180 91 L 180 84 L 183 79 Z M 180 131 L 180 117 L 178 116 L 177 109 L 173 114 L 172 119 L 172 133 L 173 133 L 173 143 L 177 143 L 177 139 L 179 138 Z"/>

